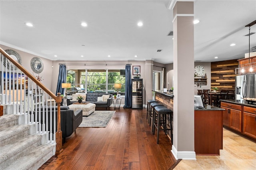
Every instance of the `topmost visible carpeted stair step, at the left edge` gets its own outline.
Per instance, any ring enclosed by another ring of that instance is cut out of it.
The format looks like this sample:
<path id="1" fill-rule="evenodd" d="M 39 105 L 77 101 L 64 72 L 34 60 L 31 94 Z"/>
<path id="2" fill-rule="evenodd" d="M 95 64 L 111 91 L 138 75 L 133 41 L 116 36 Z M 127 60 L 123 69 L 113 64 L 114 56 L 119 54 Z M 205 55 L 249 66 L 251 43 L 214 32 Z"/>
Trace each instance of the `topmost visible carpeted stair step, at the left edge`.
<path id="1" fill-rule="evenodd" d="M 0 131 L 18 124 L 19 115 L 3 115 L 0 117 Z"/>

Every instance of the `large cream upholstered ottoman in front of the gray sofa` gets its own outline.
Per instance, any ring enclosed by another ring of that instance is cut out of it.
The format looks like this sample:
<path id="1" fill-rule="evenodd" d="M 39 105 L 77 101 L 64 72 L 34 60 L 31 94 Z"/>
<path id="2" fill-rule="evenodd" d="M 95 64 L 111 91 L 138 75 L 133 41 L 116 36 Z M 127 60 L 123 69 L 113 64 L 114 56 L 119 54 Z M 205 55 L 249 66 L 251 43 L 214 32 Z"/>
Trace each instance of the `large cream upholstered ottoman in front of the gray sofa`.
<path id="1" fill-rule="evenodd" d="M 73 103 L 72 105 L 68 106 L 69 109 L 74 111 L 78 109 L 82 109 L 83 116 L 89 116 L 91 113 L 95 111 L 96 105 L 94 103 Z"/>

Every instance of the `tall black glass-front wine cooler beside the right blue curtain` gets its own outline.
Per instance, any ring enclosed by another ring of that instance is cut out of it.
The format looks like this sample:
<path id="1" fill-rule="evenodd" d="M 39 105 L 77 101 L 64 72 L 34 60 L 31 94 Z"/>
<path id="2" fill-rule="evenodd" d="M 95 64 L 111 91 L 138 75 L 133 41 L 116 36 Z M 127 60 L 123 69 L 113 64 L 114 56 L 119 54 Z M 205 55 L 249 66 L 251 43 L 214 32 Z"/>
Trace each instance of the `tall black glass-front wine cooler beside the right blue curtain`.
<path id="1" fill-rule="evenodd" d="M 132 108 L 143 109 L 143 79 L 132 79 Z"/>

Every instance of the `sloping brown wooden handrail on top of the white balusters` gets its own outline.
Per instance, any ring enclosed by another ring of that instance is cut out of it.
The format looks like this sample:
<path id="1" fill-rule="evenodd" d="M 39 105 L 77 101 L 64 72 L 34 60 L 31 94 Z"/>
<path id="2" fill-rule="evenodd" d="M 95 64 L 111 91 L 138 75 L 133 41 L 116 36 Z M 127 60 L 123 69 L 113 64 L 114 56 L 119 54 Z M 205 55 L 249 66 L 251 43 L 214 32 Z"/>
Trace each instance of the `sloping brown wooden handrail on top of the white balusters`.
<path id="1" fill-rule="evenodd" d="M 47 89 L 36 77 L 34 77 L 30 72 L 28 72 L 24 67 L 20 65 L 17 61 L 15 61 L 8 53 L 6 53 L 1 47 L 0 47 L 0 53 L 4 55 L 4 57 L 8 58 L 18 69 L 20 69 L 23 73 L 25 73 L 32 81 L 34 81 L 39 87 L 41 87 L 50 97 L 52 97 L 55 101 L 57 100 L 57 96 L 52 93 L 49 89 Z"/>

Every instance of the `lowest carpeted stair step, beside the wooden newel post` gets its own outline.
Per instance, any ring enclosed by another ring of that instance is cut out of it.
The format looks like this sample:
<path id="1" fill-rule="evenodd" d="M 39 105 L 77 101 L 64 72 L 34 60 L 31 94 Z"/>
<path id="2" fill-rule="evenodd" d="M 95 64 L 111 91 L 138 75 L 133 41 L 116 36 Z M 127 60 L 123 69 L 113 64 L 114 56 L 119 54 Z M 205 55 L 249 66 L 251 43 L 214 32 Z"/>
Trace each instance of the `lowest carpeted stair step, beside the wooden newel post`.
<path id="1" fill-rule="evenodd" d="M 52 157 L 52 151 L 54 144 L 40 145 L 34 150 L 27 153 L 26 156 L 22 156 L 17 160 L 14 160 L 12 164 L 3 170 L 30 170 L 38 169 L 44 162 Z"/>

